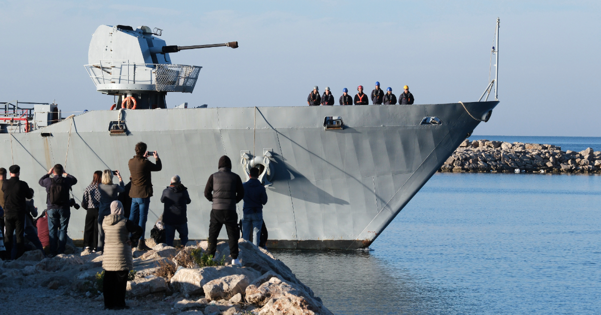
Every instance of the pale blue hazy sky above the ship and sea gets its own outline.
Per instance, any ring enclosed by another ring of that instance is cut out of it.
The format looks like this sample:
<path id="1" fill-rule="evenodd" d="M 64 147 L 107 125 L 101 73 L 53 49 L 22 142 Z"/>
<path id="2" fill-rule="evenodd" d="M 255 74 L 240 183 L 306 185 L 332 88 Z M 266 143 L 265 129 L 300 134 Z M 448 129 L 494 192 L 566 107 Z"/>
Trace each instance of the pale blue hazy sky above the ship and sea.
<path id="1" fill-rule="evenodd" d="M 192 94 L 167 95 L 169 108 L 307 106 L 314 85 L 338 99 L 376 81 L 435 104 L 478 100 L 500 17 L 501 103 L 474 134 L 601 135 L 599 1 L 0 0 L 0 8 L 0 101 L 56 101 L 76 114 L 114 103 L 84 68 L 103 24 L 160 28 L 168 45 L 239 42 L 172 53 L 174 64 L 203 69 Z"/>

